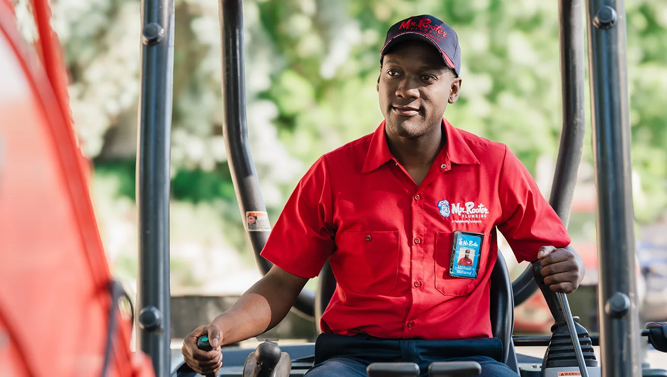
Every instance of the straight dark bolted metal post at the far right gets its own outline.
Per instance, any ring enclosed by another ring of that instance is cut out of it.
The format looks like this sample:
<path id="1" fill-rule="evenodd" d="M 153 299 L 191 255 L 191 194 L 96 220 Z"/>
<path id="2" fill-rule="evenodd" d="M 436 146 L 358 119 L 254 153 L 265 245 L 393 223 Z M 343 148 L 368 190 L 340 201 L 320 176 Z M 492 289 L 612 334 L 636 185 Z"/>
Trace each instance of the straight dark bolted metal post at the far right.
<path id="1" fill-rule="evenodd" d="M 602 376 L 639 377 L 625 4 L 587 1 Z"/>

